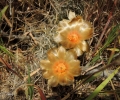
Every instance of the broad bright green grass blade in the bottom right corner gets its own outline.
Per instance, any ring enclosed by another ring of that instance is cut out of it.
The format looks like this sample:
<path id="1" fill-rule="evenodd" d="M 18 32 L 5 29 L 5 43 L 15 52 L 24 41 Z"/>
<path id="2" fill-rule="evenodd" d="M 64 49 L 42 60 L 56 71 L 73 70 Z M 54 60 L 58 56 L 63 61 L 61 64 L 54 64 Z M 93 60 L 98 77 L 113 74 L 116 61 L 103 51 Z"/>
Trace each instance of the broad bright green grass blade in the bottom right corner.
<path id="1" fill-rule="evenodd" d="M 85 100 L 92 100 L 108 84 L 108 82 L 118 73 L 120 66 L 108 76 Z"/>

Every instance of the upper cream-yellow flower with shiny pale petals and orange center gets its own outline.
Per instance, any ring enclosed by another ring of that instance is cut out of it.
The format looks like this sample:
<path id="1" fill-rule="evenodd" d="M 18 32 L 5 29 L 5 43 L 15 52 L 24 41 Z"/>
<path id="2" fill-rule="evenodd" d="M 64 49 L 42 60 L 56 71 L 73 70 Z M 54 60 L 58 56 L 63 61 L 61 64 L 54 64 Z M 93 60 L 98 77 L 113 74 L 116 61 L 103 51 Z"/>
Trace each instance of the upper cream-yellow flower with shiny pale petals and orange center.
<path id="1" fill-rule="evenodd" d="M 66 49 L 73 49 L 79 56 L 83 51 L 89 51 L 89 45 L 85 40 L 92 37 L 93 28 L 81 16 L 76 17 L 74 12 L 70 12 L 68 18 L 69 20 L 60 21 L 58 35 L 54 40 Z"/>

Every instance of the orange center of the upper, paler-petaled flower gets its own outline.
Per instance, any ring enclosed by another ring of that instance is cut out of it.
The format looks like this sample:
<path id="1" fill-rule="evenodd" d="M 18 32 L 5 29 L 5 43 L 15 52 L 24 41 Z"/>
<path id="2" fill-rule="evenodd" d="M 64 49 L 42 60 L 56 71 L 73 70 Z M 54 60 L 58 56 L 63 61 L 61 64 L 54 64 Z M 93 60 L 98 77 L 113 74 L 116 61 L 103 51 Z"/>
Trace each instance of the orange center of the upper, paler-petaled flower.
<path id="1" fill-rule="evenodd" d="M 71 32 L 71 33 L 68 34 L 67 38 L 72 43 L 77 43 L 80 39 L 80 36 L 77 32 Z"/>

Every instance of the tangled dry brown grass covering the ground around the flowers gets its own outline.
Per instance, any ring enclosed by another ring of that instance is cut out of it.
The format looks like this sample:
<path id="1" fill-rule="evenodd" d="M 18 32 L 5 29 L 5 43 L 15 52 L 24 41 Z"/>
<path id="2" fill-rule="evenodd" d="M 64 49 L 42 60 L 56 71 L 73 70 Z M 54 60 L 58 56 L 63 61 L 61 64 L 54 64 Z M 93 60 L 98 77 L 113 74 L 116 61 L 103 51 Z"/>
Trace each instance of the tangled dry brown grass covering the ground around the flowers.
<path id="1" fill-rule="evenodd" d="M 67 97 L 68 93 L 71 93 L 70 96 L 68 95 L 68 98 L 64 100 L 85 100 L 105 77 L 98 77 L 91 83 L 80 86 L 81 78 L 78 77 L 72 86 L 58 86 L 51 89 L 42 77 L 39 61 L 46 58 L 47 50 L 58 47 L 53 41 L 57 24 L 63 18 L 67 18 L 68 12 L 71 10 L 77 15 L 83 16 L 94 26 L 94 36 L 88 41 L 91 46 L 90 52 L 78 58 L 82 62 L 81 66 L 87 65 L 104 45 L 112 27 L 120 23 L 120 1 L 1 0 L 0 10 L 6 5 L 9 5 L 9 8 L 5 17 L 3 16 L 0 21 L 1 45 L 9 49 L 14 57 L 0 52 L 0 58 L 7 63 L 7 67 L 6 64 L 0 63 L 1 100 L 27 100 L 26 91 L 29 84 L 26 80 L 28 79 L 29 68 L 31 85 L 34 84 L 36 87 L 34 88 L 33 100 L 40 100 L 39 88 L 43 91 L 47 100 L 61 100 L 63 97 Z M 120 38 L 118 37 L 100 55 L 101 59 L 89 67 L 82 67 L 83 73 L 88 68 L 99 69 L 103 65 L 107 65 L 107 61 L 113 53 L 108 49 L 116 48 L 120 51 Z M 120 56 L 119 51 L 114 52 L 113 59 L 115 59 L 115 56 Z M 120 76 L 118 78 L 119 80 L 116 79 L 112 82 L 115 89 L 120 89 Z M 79 87 L 75 90 L 76 86 Z M 113 90 L 110 83 L 106 90 Z M 105 93 L 99 94 L 94 100 L 117 100 L 114 93 Z"/>

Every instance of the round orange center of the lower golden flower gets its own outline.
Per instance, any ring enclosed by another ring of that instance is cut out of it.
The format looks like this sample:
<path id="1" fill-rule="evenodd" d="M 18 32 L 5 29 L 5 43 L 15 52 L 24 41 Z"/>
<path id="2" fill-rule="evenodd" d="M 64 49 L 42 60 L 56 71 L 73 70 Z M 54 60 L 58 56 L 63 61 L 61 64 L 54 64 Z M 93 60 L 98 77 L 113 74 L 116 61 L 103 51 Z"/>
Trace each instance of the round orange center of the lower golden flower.
<path id="1" fill-rule="evenodd" d="M 55 73 L 62 74 L 66 72 L 66 70 L 67 70 L 67 65 L 65 64 L 65 62 L 60 61 L 55 64 L 55 67 L 54 67 Z"/>

